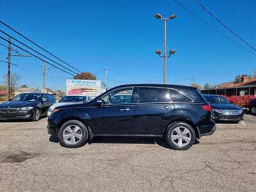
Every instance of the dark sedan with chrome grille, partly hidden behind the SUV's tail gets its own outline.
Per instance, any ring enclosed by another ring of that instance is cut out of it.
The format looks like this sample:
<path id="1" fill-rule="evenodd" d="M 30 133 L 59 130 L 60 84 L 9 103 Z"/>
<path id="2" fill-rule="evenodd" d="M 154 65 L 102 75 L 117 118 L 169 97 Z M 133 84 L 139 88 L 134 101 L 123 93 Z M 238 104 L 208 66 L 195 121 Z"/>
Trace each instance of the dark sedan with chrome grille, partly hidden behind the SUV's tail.
<path id="1" fill-rule="evenodd" d="M 243 109 L 232 104 L 220 95 L 204 95 L 205 99 L 212 107 L 212 119 L 215 121 L 234 121 L 243 120 Z"/>

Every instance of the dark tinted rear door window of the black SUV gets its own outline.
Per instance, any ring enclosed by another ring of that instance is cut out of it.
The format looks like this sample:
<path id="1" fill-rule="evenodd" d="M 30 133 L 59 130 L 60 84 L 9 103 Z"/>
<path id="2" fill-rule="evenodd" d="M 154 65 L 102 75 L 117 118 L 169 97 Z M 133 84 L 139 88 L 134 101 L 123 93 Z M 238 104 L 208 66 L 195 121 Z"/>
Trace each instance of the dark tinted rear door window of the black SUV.
<path id="1" fill-rule="evenodd" d="M 138 102 L 170 102 L 170 93 L 165 88 L 139 88 Z"/>

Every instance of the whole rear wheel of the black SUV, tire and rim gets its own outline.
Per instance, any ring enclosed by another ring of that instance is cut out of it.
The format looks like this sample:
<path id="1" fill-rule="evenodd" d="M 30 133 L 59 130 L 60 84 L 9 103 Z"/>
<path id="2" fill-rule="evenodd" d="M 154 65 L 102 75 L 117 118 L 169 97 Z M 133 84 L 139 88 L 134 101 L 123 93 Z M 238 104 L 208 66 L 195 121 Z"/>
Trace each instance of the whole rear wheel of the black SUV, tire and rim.
<path id="1" fill-rule="evenodd" d="M 196 140 L 196 134 L 191 125 L 185 122 L 175 122 L 167 127 L 166 142 L 175 150 L 187 150 Z"/>

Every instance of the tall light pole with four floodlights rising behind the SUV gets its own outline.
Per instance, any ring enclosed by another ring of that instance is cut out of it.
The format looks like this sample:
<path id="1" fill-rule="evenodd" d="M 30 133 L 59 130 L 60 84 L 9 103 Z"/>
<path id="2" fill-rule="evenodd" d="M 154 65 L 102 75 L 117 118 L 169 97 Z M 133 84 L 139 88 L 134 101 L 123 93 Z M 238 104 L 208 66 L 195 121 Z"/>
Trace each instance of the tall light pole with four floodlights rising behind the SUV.
<path id="1" fill-rule="evenodd" d="M 171 54 L 175 53 L 174 50 L 171 50 L 169 52 L 169 56 L 166 56 L 166 21 L 171 20 L 171 19 L 175 19 L 176 15 L 170 15 L 169 17 L 164 18 L 164 17 L 162 17 L 162 15 L 157 13 L 155 15 L 155 17 L 156 17 L 156 19 L 161 19 L 161 20 L 164 21 L 164 56 L 160 56 L 161 51 L 159 51 L 159 50 L 156 51 L 156 54 L 159 54 L 160 57 L 164 58 L 164 84 L 165 84 L 166 83 L 166 60 L 167 60 L 167 58 L 169 58 L 171 56 Z"/>

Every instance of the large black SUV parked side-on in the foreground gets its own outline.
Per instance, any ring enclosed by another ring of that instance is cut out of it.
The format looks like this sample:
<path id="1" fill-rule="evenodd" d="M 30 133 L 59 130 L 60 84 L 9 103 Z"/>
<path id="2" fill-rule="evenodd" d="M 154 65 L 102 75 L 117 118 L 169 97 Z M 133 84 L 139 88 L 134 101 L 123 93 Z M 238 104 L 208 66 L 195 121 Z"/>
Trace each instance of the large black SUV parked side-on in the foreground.
<path id="1" fill-rule="evenodd" d="M 196 88 L 167 84 L 117 86 L 89 102 L 58 106 L 47 125 L 65 147 L 81 147 L 93 136 L 157 136 L 177 150 L 215 127 Z"/>

